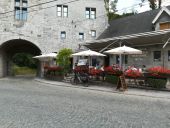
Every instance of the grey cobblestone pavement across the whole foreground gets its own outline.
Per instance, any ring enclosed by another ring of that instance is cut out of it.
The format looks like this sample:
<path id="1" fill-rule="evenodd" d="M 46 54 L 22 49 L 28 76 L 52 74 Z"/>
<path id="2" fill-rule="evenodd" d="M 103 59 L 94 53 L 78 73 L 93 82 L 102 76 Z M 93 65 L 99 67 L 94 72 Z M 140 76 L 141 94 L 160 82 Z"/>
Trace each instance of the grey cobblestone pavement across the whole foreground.
<path id="1" fill-rule="evenodd" d="M 5 78 L 0 128 L 170 128 L 170 100 Z"/>

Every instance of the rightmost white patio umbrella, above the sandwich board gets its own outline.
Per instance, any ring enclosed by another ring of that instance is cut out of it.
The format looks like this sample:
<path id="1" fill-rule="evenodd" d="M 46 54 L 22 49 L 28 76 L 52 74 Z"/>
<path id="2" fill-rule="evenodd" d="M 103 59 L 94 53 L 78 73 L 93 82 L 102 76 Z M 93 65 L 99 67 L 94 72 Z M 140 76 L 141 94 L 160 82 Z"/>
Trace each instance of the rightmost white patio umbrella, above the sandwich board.
<path id="1" fill-rule="evenodd" d="M 142 54 L 141 50 L 135 49 L 135 48 L 131 48 L 131 47 L 127 47 L 127 46 L 122 46 L 122 47 L 117 47 L 108 51 L 105 51 L 105 53 L 108 54 L 118 54 L 118 55 L 129 55 L 129 54 Z M 122 63 L 120 61 L 120 66 L 122 66 Z"/>

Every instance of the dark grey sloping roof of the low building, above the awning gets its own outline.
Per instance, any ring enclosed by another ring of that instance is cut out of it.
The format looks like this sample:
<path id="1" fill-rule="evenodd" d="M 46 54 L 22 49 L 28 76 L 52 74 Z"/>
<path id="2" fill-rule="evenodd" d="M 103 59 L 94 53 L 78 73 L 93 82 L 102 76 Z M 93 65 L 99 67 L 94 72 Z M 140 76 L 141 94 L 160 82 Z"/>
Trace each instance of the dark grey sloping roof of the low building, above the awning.
<path id="1" fill-rule="evenodd" d="M 170 6 L 167 8 L 170 10 Z M 109 22 L 110 26 L 98 37 L 98 40 L 154 31 L 152 21 L 159 11 L 160 9 L 156 9 L 112 20 Z"/>

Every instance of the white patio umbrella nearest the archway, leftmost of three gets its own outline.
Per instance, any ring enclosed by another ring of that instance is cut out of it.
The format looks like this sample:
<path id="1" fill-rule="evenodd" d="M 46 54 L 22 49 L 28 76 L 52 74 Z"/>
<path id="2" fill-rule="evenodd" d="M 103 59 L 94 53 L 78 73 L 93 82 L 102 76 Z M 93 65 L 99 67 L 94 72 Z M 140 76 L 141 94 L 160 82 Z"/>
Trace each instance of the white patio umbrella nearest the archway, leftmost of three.
<path id="1" fill-rule="evenodd" d="M 33 58 L 39 59 L 41 61 L 50 61 L 54 58 L 56 58 L 57 54 L 56 53 L 48 53 L 48 54 L 42 54 L 39 56 L 34 56 Z"/>

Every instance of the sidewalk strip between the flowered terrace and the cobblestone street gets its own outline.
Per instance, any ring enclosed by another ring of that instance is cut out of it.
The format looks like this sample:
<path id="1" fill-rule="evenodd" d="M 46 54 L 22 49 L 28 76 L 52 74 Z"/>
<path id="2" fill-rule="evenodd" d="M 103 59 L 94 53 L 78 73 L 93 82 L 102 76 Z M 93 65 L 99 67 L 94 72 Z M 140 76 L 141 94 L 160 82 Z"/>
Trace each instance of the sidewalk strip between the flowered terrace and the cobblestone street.
<path id="1" fill-rule="evenodd" d="M 102 92 L 118 93 L 123 95 L 146 96 L 146 97 L 164 98 L 170 100 L 170 92 L 168 91 L 155 91 L 155 90 L 128 88 L 127 91 L 121 92 L 121 91 L 116 91 L 116 87 L 110 87 L 110 86 L 89 85 L 88 87 L 84 87 L 82 85 L 71 85 L 70 83 L 51 81 L 51 80 L 45 80 L 40 78 L 35 78 L 35 81 L 40 83 L 50 84 L 53 86 L 81 88 L 81 89 L 88 89 L 88 90 L 95 90 L 95 91 L 102 91 Z"/>

